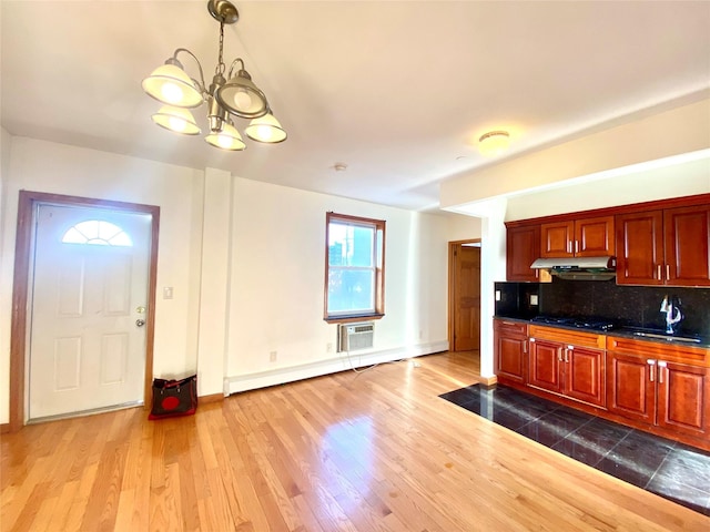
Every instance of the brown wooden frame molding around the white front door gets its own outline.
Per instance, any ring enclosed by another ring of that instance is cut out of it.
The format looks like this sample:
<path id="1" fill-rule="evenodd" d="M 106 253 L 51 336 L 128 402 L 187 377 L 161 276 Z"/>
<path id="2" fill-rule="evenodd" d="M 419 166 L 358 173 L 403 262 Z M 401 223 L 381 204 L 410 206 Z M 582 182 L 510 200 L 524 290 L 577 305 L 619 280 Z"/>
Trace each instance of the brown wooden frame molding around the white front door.
<path id="1" fill-rule="evenodd" d="M 120 211 L 151 215 L 151 244 L 148 274 L 148 319 L 145 324 L 145 376 L 143 383 L 143 408 L 148 408 L 152 396 L 153 341 L 155 337 L 155 286 L 158 275 L 158 234 L 160 207 L 138 203 L 65 196 L 43 192 L 20 191 L 18 200 L 18 224 L 14 243 L 14 273 L 12 282 L 12 324 L 10 328 L 10 431 L 17 431 L 26 421 L 26 365 L 28 357 L 28 304 L 31 254 L 34 247 L 34 225 L 38 205 L 63 205 Z"/>

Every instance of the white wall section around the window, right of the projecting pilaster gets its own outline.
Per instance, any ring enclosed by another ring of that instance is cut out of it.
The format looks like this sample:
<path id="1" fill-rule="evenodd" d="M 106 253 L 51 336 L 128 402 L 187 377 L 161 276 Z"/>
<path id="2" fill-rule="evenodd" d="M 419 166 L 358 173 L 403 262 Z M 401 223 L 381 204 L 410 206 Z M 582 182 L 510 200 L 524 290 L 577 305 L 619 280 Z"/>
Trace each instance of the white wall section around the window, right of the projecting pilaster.
<path id="1" fill-rule="evenodd" d="M 374 348 L 354 358 L 382 361 L 447 348 L 445 216 L 241 178 L 233 205 L 230 390 L 348 367 L 335 352 L 336 326 L 323 320 L 328 211 L 387 222 L 385 317 L 375 323 Z"/>

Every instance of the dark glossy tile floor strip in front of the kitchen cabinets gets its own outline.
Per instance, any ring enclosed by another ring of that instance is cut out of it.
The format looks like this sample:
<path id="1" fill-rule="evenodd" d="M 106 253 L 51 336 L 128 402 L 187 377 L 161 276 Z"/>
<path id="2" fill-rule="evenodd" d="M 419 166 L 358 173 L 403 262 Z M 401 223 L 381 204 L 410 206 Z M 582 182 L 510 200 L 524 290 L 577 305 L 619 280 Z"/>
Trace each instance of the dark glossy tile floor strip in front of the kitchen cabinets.
<path id="1" fill-rule="evenodd" d="M 505 386 L 440 396 L 575 460 L 710 515 L 710 453 Z"/>

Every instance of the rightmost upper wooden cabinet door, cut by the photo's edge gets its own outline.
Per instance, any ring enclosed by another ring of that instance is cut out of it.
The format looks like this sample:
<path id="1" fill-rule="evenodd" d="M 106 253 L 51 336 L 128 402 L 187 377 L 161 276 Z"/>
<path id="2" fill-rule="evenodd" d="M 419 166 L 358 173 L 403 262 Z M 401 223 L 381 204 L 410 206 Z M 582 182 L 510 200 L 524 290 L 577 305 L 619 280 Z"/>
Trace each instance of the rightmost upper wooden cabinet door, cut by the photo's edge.
<path id="1" fill-rule="evenodd" d="M 710 205 L 663 212 L 666 283 L 710 286 Z"/>

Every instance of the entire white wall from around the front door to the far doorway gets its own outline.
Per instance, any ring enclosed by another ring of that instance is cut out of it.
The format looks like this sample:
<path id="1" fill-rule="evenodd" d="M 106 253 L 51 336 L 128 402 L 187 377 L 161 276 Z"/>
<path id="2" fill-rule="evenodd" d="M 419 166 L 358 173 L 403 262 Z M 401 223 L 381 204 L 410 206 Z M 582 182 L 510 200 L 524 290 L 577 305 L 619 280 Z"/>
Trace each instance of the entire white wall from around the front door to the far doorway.
<path id="1" fill-rule="evenodd" d="M 386 316 L 376 323 L 374 349 L 357 359 L 393 360 L 448 347 L 447 216 L 257 183 L 212 168 L 196 171 L 11 137 L 7 132 L 2 141 L 0 423 L 9 420 L 20 190 L 160 206 L 154 375 L 196 370 L 200 395 L 349 367 L 335 352 L 335 326 L 323 321 L 327 211 L 387 221 Z M 162 298 L 168 286 L 173 299 Z M 271 351 L 277 351 L 276 362 L 270 362 Z M 232 381 L 236 385 L 230 387 Z"/>

